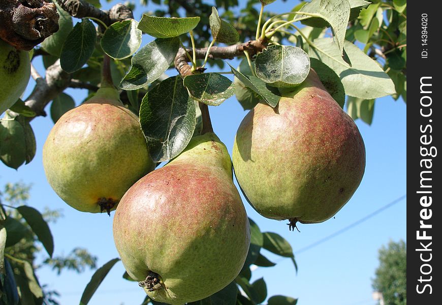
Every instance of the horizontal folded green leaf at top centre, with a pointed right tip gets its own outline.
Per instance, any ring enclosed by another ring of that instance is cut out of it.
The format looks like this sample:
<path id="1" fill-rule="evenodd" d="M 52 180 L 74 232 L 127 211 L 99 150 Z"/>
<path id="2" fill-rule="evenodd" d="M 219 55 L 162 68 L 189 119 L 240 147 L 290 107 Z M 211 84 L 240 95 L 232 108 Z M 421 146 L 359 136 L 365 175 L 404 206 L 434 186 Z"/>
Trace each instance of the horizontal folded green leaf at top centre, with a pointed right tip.
<path id="1" fill-rule="evenodd" d="M 200 19 L 200 17 L 155 17 L 143 14 L 138 28 L 156 38 L 171 38 L 192 31 Z"/>

